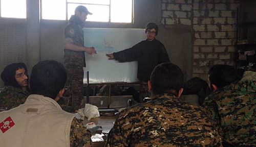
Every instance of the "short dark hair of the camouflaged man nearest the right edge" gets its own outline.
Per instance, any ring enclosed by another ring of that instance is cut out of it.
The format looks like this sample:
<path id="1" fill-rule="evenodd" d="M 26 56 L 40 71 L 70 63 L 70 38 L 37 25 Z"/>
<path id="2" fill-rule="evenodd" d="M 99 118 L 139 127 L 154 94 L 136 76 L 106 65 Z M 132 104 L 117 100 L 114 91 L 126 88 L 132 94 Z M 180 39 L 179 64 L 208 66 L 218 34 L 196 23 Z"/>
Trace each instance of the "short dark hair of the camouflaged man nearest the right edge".
<path id="1" fill-rule="evenodd" d="M 209 69 L 208 75 L 210 83 L 218 88 L 238 80 L 237 70 L 230 65 L 216 64 Z"/>

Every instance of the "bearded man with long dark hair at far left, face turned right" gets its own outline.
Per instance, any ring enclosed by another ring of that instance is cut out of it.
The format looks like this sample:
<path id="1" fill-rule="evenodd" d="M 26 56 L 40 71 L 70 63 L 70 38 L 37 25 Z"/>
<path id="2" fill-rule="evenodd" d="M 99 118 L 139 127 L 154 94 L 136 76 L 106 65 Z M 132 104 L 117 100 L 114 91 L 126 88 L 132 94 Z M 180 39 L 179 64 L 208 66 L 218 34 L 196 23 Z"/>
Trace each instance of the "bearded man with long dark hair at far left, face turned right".
<path id="1" fill-rule="evenodd" d="M 7 110 L 24 104 L 28 95 L 28 70 L 22 62 L 7 65 L 1 74 L 4 89 L 0 92 L 0 107 Z"/>

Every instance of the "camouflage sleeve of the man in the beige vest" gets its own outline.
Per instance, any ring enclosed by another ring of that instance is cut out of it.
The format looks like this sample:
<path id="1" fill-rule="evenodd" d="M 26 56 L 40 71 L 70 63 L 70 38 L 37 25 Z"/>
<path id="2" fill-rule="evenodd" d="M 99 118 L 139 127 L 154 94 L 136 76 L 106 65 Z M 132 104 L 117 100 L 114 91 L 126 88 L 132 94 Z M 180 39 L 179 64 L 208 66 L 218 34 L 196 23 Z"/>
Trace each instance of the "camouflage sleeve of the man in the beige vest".
<path id="1" fill-rule="evenodd" d="M 76 118 L 70 127 L 70 147 L 92 146 L 91 133 Z"/>

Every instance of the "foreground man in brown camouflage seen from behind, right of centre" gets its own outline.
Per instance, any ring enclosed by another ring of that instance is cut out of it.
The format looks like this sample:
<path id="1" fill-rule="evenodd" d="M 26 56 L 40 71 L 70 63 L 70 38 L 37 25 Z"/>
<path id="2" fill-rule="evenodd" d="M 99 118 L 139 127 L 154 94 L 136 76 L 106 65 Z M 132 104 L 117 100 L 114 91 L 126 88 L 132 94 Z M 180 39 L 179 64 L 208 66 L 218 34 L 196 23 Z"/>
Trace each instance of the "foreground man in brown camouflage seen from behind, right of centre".
<path id="1" fill-rule="evenodd" d="M 183 74 L 172 63 L 155 67 L 152 100 L 120 112 L 108 135 L 110 146 L 222 146 L 208 112 L 179 101 Z"/>

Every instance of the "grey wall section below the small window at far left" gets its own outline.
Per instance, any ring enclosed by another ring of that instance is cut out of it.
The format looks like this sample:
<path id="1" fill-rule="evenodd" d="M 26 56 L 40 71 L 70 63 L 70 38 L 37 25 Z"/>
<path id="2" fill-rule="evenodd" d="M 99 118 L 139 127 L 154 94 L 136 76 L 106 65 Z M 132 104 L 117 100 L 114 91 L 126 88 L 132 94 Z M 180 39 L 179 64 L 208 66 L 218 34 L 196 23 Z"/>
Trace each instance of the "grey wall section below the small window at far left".
<path id="1" fill-rule="evenodd" d="M 0 18 L 0 73 L 10 63 L 27 63 L 26 28 L 24 19 Z"/>

